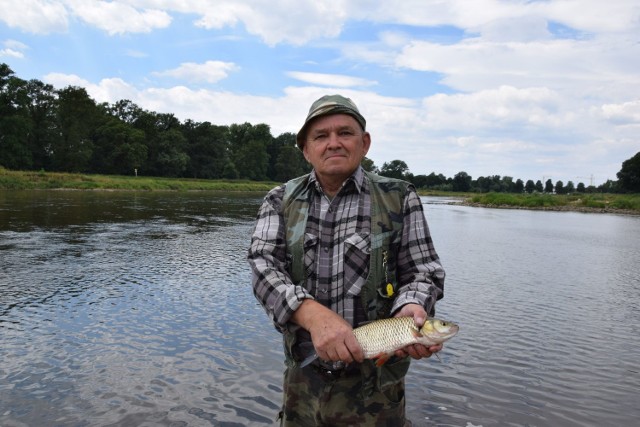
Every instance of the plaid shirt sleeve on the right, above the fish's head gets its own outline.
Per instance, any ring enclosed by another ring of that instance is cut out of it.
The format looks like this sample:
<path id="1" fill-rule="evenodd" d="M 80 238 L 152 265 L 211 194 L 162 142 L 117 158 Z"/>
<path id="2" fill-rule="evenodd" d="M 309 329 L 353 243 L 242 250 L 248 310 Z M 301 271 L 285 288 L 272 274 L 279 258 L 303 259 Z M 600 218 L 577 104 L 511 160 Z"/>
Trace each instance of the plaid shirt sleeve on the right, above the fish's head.
<path id="1" fill-rule="evenodd" d="M 392 312 L 406 304 L 420 304 L 433 316 L 436 301 L 444 295 L 445 271 L 433 245 L 422 202 L 413 187 L 404 199 L 404 225 L 397 262 L 399 286 Z"/>

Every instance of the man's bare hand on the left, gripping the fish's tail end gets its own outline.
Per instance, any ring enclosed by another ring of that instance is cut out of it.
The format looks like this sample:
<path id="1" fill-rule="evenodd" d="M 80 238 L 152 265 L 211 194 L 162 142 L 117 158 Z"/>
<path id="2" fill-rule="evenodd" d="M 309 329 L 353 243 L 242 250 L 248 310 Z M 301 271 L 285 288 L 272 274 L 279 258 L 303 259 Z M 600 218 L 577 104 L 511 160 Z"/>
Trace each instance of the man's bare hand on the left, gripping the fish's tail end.
<path id="1" fill-rule="evenodd" d="M 364 354 L 346 320 L 322 304 L 306 299 L 291 317 L 311 334 L 318 357 L 326 361 L 362 363 Z"/>

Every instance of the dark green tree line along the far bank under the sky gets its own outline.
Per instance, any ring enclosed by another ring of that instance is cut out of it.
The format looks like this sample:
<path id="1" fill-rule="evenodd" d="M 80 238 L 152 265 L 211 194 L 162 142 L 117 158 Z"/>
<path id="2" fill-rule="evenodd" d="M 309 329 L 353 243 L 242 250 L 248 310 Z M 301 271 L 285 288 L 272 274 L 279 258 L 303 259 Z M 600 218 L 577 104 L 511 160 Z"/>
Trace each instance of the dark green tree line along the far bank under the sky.
<path id="1" fill-rule="evenodd" d="M 130 100 L 97 103 L 82 87 L 55 89 L 0 64 L 0 166 L 7 169 L 283 182 L 310 171 L 295 139 L 294 133 L 274 137 L 266 124 L 181 122 Z M 447 191 L 640 191 L 640 153 L 625 163 L 619 181 L 600 187 L 499 175 L 472 179 L 466 172 L 413 175 L 402 160 L 378 168 L 365 158 L 363 167 L 417 188 Z"/>

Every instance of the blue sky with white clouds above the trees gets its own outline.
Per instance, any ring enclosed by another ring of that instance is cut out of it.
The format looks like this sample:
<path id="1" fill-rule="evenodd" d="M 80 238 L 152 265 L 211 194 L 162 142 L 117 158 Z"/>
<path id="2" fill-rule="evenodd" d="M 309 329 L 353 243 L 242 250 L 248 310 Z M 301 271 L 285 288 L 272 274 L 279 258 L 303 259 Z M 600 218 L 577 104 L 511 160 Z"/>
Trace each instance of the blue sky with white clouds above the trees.
<path id="1" fill-rule="evenodd" d="M 637 0 L 0 0 L 0 63 L 273 136 L 339 93 L 414 175 L 597 186 L 640 151 Z"/>

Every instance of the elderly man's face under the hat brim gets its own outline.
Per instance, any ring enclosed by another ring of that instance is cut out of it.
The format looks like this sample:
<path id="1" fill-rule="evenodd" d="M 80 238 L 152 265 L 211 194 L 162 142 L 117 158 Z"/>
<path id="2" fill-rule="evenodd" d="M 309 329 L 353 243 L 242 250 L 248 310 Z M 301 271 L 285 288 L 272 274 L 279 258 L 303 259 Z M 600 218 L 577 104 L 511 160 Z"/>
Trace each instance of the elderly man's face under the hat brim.
<path id="1" fill-rule="evenodd" d="M 302 152 L 320 183 L 342 183 L 358 168 L 369 151 L 371 136 L 348 114 L 313 120 L 307 128 Z"/>

